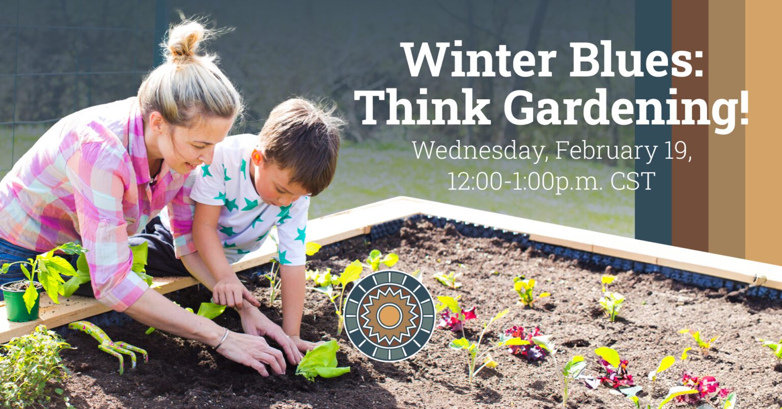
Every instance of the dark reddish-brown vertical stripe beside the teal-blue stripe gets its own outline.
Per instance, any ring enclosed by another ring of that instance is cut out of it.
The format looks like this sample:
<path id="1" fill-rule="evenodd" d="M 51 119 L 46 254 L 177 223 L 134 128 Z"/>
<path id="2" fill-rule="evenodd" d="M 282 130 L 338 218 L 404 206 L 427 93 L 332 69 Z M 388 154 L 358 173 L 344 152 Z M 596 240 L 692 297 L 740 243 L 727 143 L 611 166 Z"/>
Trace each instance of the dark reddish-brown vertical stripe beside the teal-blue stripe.
<path id="1" fill-rule="evenodd" d="M 689 77 L 673 77 L 676 88 L 674 99 L 703 99 L 708 102 L 708 0 L 692 0 L 672 3 L 671 51 L 692 53 L 693 74 Z M 703 52 L 696 58 L 695 52 Z M 695 70 L 703 72 L 695 76 Z M 683 104 L 679 104 L 677 118 L 684 118 Z M 693 120 L 701 116 L 700 109 L 693 109 Z M 706 109 L 708 113 L 708 109 Z M 671 244 L 708 251 L 708 125 L 675 125 L 671 127 L 671 143 L 687 144 L 687 156 L 671 163 Z M 667 146 L 659 151 L 667 154 Z M 676 157 L 672 149 L 672 155 Z"/>

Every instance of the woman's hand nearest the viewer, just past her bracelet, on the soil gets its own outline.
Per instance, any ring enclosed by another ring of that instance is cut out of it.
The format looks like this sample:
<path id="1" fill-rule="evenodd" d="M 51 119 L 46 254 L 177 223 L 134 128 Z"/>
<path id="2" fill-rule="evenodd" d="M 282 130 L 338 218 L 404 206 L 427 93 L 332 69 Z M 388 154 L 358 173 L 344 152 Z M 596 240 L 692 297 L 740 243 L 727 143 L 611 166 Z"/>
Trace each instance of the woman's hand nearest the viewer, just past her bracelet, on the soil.
<path id="1" fill-rule="evenodd" d="M 274 349 L 260 336 L 228 332 L 228 337 L 217 348 L 217 352 L 234 362 L 255 369 L 261 376 L 269 376 L 264 364 L 269 365 L 275 375 L 285 373 L 285 359 L 280 350 Z"/>

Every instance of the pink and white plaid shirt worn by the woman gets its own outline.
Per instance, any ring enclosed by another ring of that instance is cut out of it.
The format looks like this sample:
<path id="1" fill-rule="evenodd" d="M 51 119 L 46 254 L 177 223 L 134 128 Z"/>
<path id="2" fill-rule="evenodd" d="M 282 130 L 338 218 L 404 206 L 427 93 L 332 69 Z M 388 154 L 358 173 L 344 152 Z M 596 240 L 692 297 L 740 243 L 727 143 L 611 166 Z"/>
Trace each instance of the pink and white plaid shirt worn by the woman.
<path id="1" fill-rule="evenodd" d="M 41 253 L 80 242 L 95 298 L 124 311 L 148 288 L 131 272 L 127 237 L 163 206 L 177 257 L 195 252 L 186 176 L 163 163 L 150 187 L 135 97 L 83 109 L 59 120 L 0 182 L 0 237 Z"/>

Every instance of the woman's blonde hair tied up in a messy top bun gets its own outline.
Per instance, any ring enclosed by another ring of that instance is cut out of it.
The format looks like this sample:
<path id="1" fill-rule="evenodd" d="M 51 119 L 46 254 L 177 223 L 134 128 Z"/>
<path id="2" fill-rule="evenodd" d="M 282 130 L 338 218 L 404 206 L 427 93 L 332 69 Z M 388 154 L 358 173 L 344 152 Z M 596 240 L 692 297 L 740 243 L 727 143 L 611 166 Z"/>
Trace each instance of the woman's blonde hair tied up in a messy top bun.
<path id="1" fill-rule="evenodd" d="M 216 34 L 198 21 L 170 27 L 161 44 L 166 62 L 152 70 L 138 88 L 145 120 L 152 111 L 163 114 L 169 124 L 185 127 L 203 117 L 239 117 L 242 96 L 217 68 L 217 56 L 197 53 L 201 42 Z"/>

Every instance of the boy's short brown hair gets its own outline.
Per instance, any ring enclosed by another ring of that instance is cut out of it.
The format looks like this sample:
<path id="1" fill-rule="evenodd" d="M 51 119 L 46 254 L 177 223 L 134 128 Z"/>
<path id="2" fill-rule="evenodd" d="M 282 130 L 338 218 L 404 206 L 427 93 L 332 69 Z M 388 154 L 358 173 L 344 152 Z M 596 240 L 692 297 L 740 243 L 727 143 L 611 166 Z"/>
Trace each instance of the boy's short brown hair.
<path id="1" fill-rule="evenodd" d="M 264 166 L 291 169 L 289 183 L 300 185 L 312 196 L 332 182 L 339 156 L 339 131 L 345 122 L 335 107 L 318 106 L 293 98 L 275 106 L 260 130 Z"/>

